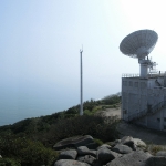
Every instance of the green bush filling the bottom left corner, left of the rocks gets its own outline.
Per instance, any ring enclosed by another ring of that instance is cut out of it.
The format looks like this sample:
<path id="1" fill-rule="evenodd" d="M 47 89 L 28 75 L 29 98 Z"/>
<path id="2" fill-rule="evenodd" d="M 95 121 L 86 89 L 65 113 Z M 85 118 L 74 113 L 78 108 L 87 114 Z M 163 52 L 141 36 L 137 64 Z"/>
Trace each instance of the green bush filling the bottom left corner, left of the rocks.
<path id="1" fill-rule="evenodd" d="M 46 148 L 40 142 L 33 142 L 25 137 L 6 135 L 0 137 L 0 154 L 3 157 L 15 158 L 23 166 L 51 166 L 59 154 Z"/>

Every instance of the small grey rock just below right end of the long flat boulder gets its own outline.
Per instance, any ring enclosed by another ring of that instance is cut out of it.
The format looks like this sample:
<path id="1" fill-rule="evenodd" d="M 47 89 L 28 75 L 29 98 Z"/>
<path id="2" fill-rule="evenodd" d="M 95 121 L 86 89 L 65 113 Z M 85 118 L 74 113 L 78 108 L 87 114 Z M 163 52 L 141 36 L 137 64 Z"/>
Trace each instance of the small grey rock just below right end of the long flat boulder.
<path id="1" fill-rule="evenodd" d="M 96 157 L 96 151 L 91 151 L 86 146 L 80 146 L 80 147 L 77 147 L 77 154 L 80 156 L 91 155 L 93 157 Z"/>

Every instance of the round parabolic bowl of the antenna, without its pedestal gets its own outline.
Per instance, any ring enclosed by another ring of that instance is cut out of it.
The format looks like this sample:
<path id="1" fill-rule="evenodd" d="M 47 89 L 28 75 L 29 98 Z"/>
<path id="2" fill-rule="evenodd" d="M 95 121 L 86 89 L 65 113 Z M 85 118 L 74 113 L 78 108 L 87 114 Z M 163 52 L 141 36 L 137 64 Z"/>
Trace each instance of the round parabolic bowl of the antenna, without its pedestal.
<path id="1" fill-rule="evenodd" d="M 125 55 L 144 59 L 154 49 L 157 39 L 158 35 L 155 31 L 135 31 L 122 40 L 120 50 Z"/>

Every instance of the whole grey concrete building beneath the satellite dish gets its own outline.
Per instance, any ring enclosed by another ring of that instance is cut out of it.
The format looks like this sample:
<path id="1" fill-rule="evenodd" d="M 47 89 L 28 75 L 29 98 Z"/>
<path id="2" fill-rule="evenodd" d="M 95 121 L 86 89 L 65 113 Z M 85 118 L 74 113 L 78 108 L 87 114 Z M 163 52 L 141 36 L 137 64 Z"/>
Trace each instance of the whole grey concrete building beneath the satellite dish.
<path id="1" fill-rule="evenodd" d="M 166 129 L 166 73 L 122 76 L 122 118 Z"/>

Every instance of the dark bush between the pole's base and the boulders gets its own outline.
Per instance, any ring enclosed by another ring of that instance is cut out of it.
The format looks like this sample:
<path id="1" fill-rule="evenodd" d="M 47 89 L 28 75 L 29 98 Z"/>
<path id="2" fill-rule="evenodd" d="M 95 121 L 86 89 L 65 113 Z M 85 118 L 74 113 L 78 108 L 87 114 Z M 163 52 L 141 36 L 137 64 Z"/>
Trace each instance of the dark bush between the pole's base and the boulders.
<path id="1" fill-rule="evenodd" d="M 45 135 L 42 135 L 42 138 L 44 144 L 50 144 L 50 146 L 61 139 L 76 135 L 92 135 L 103 142 L 114 141 L 118 138 L 117 124 L 118 121 L 115 117 L 108 118 L 94 115 L 60 120 L 51 126 L 51 129 Z M 45 141 L 49 141 L 49 143 Z"/>

